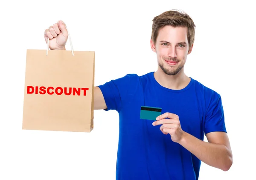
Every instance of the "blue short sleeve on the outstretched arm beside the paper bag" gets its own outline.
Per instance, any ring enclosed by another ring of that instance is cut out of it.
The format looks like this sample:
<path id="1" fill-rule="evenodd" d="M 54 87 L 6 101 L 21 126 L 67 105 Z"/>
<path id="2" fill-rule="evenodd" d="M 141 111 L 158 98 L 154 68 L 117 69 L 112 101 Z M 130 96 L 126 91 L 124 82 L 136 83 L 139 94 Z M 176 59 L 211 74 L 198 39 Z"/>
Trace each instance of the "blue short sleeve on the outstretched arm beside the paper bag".
<path id="1" fill-rule="evenodd" d="M 136 83 L 138 76 L 136 74 L 127 74 L 122 78 L 111 80 L 105 84 L 98 85 L 105 99 L 108 110 L 120 111 L 122 102 L 126 98 L 127 92 Z M 130 88 L 130 89 L 129 89 Z"/>

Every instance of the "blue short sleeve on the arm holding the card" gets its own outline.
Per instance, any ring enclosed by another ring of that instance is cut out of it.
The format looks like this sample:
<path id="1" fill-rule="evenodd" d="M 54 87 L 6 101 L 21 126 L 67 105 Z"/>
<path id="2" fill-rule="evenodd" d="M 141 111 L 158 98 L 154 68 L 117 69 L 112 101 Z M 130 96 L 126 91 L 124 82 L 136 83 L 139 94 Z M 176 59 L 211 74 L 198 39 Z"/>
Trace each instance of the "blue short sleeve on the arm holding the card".
<path id="1" fill-rule="evenodd" d="M 221 96 L 213 91 L 204 121 L 204 133 L 214 131 L 227 133 Z"/>

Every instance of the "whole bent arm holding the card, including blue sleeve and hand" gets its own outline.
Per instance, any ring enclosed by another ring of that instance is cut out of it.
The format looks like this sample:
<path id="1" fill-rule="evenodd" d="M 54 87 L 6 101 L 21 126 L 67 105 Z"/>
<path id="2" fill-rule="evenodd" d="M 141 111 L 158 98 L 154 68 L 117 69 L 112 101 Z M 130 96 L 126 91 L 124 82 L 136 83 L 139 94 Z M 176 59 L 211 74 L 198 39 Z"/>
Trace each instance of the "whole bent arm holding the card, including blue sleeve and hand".
<path id="1" fill-rule="evenodd" d="M 208 142 L 184 132 L 180 126 L 179 116 L 173 113 L 160 115 L 153 125 L 161 125 L 160 130 L 163 134 L 170 134 L 172 141 L 182 145 L 207 165 L 223 171 L 230 169 L 233 155 L 225 128 L 221 97 L 217 93 L 210 99 L 204 119 L 204 132 Z"/>

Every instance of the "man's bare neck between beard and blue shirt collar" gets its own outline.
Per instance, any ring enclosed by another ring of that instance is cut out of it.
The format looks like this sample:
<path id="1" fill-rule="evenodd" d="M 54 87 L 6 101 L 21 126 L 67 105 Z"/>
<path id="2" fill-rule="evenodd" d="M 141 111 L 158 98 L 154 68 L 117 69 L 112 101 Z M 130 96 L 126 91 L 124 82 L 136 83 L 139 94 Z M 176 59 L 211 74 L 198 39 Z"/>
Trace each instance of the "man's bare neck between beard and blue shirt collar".
<path id="1" fill-rule="evenodd" d="M 162 69 L 158 69 L 154 73 L 154 78 L 161 86 L 172 90 L 181 90 L 185 88 L 191 80 L 185 75 L 183 69 L 176 75 L 167 75 Z"/>

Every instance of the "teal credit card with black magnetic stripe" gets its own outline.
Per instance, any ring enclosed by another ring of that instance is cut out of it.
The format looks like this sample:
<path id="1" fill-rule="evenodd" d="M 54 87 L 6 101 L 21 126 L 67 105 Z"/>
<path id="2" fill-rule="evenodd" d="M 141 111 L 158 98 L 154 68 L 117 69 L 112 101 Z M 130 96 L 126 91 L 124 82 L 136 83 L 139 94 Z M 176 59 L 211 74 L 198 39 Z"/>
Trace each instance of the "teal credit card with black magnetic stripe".
<path id="1" fill-rule="evenodd" d="M 162 108 L 160 107 L 140 107 L 140 119 L 156 120 L 157 116 L 162 114 Z"/>

